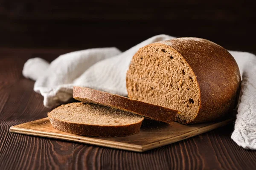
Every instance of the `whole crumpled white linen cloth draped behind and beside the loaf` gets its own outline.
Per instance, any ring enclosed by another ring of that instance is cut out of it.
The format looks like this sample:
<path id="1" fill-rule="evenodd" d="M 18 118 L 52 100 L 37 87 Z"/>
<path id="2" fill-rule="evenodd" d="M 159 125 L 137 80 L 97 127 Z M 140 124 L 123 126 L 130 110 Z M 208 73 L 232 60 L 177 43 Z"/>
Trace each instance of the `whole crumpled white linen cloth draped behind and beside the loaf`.
<path id="1" fill-rule="evenodd" d="M 93 48 L 75 51 L 56 58 L 29 59 L 23 68 L 26 78 L 36 80 L 34 91 L 44 96 L 46 107 L 55 107 L 72 98 L 73 86 L 94 88 L 127 96 L 126 71 L 137 50 L 153 42 L 175 37 L 157 35 L 125 52 L 117 48 Z M 242 93 L 232 139 L 244 148 L 256 149 L 256 56 L 229 51 L 239 65 Z"/>

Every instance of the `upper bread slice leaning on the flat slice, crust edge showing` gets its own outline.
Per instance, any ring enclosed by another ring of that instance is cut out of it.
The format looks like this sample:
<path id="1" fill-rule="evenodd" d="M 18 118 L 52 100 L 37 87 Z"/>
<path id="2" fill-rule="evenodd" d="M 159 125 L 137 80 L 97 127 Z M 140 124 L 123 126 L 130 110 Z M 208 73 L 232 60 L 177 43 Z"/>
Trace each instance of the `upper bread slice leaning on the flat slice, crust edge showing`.
<path id="1" fill-rule="evenodd" d="M 73 97 L 81 102 L 105 105 L 166 123 L 173 122 L 178 113 L 177 110 L 153 105 L 139 100 L 129 99 L 127 97 L 103 91 L 97 91 L 91 88 L 74 87 Z"/>

